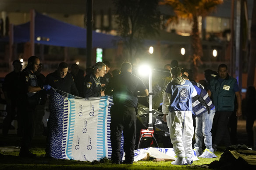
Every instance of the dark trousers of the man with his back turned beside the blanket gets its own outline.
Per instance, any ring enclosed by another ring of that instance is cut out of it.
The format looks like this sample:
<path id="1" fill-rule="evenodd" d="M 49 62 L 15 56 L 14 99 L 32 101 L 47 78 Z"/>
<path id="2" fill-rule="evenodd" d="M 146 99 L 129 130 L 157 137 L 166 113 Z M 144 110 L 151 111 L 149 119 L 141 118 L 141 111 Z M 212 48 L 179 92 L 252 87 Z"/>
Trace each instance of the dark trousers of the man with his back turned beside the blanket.
<path id="1" fill-rule="evenodd" d="M 112 105 L 110 123 L 110 140 L 112 146 L 111 160 L 120 162 L 121 135 L 124 135 L 125 161 L 133 162 L 136 138 L 135 108 L 123 105 Z"/>

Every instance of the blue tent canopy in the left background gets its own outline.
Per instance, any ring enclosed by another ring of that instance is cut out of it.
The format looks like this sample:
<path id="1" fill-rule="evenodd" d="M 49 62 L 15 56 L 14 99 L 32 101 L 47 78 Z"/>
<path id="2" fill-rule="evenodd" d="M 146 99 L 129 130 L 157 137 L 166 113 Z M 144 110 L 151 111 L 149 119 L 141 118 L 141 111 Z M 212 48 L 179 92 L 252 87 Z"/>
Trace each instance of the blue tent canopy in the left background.
<path id="1" fill-rule="evenodd" d="M 30 41 L 30 22 L 14 26 L 14 42 Z M 40 41 L 37 38 L 40 37 Z M 1 41 L 9 41 L 8 37 Z M 92 31 L 92 47 L 116 48 L 121 37 Z M 35 43 L 64 47 L 86 48 L 86 29 L 67 24 L 36 12 Z"/>

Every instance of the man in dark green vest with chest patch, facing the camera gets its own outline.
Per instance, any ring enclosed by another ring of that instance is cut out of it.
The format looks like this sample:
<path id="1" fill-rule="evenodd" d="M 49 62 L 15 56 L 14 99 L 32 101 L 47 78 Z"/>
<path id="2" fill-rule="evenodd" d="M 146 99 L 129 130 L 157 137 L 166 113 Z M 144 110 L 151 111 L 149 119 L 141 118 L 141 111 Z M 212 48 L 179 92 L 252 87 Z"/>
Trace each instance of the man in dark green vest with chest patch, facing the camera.
<path id="1" fill-rule="evenodd" d="M 222 139 L 224 139 L 226 146 L 230 145 L 228 121 L 234 111 L 235 97 L 238 104 L 236 116 L 238 117 L 242 114 L 242 101 L 237 80 L 228 75 L 228 67 L 225 64 L 219 65 L 218 76 L 210 80 L 208 94 L 216 108 L 212 128 L 213 149 L 215 151 Z"/>

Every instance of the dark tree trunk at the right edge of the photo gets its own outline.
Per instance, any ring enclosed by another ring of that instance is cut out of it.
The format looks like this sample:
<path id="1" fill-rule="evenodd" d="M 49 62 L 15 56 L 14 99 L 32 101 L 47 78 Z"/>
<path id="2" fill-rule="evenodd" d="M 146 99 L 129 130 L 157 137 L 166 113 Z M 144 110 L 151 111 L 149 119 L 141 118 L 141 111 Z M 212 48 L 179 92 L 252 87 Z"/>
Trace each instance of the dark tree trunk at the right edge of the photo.
<path id="1" fill-rule="evenodd" d="M 256 0 L 253 1 L 253 8 L 252 8 L 251 43 L 250 43 L 247 87 L 254 84 L 255 54 L 256 54 Z"/>

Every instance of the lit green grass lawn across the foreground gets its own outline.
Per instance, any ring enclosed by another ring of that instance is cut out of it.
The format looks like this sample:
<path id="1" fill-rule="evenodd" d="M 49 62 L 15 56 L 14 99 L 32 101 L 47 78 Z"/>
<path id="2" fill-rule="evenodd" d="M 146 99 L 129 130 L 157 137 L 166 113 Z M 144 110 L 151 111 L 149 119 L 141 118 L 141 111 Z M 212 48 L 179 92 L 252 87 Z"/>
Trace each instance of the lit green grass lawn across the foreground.
<path id="1" fill-rule="evenodd" d="M 208 168 L 207 164 L 210 164 L 214 160 L 219 160 L 222 154 L 222 152 L 216 152 L 215 155 L 217 158 L 199 158 L 199 161 L 194 161 L 192 165 L 188 166 L 171 165 L 171 161 L 153 162 L 152 160 L 138 161 L 133 165 L 115 165 L 111 164 L 110 160 L 107 159 L 94 162 L 82 162 L 77 160 L 45 158 L 45 148 L 42 146 L 44 141 L 41 138 L 36 140 L 38 140 L 36 143 L 39 147 L 33 147 L 31 149 L 32 153 L 36 153 L 36 158 L 20 158 L 18 157 L 19 152 L 0 152 L 3 154 L 0 155 L 0 170 L 200 170 Z"/>

